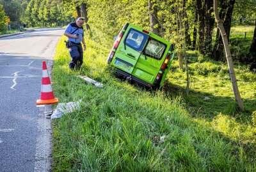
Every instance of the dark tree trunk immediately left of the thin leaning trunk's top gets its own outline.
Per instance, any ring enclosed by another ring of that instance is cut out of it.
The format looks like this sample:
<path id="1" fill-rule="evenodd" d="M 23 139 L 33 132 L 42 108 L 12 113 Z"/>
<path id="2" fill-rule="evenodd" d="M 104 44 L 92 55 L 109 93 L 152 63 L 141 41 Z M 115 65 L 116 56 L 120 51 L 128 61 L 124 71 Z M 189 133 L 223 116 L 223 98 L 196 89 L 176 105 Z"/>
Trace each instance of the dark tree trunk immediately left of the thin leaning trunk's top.
<path id="1" fill-rule="evenodd" d="M 212 31 L 214 27 L 214 18 L 212 17 L 213 12 L 213 0 L 205 0 L 204 1 L 204 9 L 205 9 L 205 15 L 204 15 L 204 48 L 205 48 L 205 55 L 211 56 L 212 52 Z"/>

